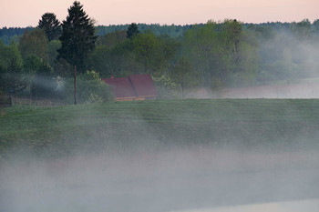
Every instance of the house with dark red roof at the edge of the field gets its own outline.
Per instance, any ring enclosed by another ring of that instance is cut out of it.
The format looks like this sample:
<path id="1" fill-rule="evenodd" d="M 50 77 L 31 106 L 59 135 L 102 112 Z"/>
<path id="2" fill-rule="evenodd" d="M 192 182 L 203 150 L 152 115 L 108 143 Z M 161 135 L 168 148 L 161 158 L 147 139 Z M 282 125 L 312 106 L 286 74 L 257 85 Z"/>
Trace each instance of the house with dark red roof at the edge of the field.
<path id="1" fill-rule="evenodd" d="M 110 77 L 102 79 L 114 87 L 117 101 L 133 101 L 155 99 L 159 96 L 153 80 L 149 75 L 134 75 L 129 77 Z"/>

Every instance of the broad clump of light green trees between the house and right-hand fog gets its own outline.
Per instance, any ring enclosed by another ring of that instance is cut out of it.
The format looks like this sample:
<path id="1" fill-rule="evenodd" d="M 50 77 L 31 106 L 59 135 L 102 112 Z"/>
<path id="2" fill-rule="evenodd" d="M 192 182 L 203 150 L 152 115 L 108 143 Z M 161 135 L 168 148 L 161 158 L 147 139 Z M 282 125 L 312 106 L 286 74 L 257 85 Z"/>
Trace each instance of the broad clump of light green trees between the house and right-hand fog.
<path id="1" fill-rule="evenodd" d="M 187 31 L 183 44 L 183 54 L 192 60 L 200 76 L 200 86 L 218 89 L 233 83 L 248 85 L 256 78 L 257 42 L 236 20 L 197 25 Z M 236 76 L 241 77 L 234 81 Z"/>

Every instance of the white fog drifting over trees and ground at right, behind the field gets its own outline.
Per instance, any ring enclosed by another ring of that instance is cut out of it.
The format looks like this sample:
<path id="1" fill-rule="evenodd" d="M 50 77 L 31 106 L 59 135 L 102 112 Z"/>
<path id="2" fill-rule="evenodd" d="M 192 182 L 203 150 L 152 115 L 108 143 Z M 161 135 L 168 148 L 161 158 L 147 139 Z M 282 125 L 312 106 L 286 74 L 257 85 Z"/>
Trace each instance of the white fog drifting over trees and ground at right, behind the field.
<path id="1" fill-rule="evenodd" d="M 310 24 L 309 28 L 296 25 L 255 25 L 251 42 L 257 44 L 259 59 L 253 80 L 239 76 L 238 82 L 226 82 L 214 91 L 192 88 L 187 97 L 318 98 L 319 35 Z"/>

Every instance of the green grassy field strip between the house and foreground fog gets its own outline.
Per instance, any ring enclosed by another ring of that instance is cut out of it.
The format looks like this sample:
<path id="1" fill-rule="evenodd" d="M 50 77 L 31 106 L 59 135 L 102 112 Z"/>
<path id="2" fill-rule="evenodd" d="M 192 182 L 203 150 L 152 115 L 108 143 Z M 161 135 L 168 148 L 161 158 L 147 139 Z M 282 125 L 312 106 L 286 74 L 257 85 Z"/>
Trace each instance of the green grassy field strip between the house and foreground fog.
<path id="1" fill-rule="evenodd" d="M 202 99 L 0 108 L 0 156 L 136 146 L 317 148 L 317 99 Z"/>

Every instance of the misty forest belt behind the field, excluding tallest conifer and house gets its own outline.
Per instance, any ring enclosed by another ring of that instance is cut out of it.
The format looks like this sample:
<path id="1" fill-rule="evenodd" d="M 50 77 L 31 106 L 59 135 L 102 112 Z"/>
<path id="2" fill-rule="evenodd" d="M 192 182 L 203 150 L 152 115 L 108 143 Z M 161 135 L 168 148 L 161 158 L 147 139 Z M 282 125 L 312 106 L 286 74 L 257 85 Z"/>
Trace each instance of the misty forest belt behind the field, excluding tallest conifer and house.
<path id="1" fill-rule="evenodd" d="M 0 29 L 0 92 L 71 102 L 74 67 L 60 56 L 64 28 L 54 14 L 46 15 L 36 27 Z M 46 27 L 46 18 L 55 27 Z M 79 102 L 112 99 L 110 88 L 99 80 L 110 75 L 150 74 L 161 98 L 184 97 L 199 87 L 218 90 L 319 77 L 319 19 L 132 23 L 94 30 L 94 46 L 77 63 Z"/>

